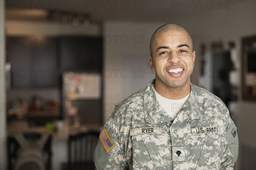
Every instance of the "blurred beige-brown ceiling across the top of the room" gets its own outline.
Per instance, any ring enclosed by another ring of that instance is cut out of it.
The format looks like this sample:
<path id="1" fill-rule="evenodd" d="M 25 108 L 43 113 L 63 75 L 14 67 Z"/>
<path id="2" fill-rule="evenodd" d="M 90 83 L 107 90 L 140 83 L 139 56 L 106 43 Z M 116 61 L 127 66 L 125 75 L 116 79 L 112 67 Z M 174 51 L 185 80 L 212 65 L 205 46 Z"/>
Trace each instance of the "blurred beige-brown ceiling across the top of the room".
<path id="1" fill-rule="evenodd" d="M 229 10 L 231 6 L 240 2 L 238 0 L 6 0 L 6 19 L 42 19 L 46 17 L 44 11 L 52 10 L 86 14 L 90 16 L 90 21 L 95 23 L 104 20 L 166 21 L 177 17 L 219 12 L 220 9 Z"/>

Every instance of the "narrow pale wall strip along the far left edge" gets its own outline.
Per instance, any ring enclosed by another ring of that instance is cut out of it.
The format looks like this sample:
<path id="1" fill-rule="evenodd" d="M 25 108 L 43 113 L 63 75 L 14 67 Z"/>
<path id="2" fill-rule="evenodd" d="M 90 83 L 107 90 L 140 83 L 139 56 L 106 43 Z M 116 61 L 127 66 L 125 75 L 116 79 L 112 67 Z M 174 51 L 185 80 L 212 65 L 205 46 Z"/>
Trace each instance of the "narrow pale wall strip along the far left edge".
<path id="1" fill-rule="evenodd" d="M 1 6 L 0 6 L 1 7 Z M 0 8 L 0 35 L 5 35 L 5 9 Z M 5 41 L 0 43 L 0 70 L 5 69 Z M 0 170 L 6 170 L 6 87 L 5 77 L 0 73 Z M 5 108 L 4 108 L 5 107 Z"/>

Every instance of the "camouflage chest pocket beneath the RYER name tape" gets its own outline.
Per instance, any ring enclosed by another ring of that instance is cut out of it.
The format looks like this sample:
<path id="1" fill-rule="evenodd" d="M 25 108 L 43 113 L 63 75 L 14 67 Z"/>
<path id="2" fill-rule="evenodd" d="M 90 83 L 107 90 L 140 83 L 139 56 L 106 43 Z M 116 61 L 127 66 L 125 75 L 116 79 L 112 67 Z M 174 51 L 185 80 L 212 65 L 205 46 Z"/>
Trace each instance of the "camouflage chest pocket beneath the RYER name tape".
<path id="1" fill-rule="evenodd" d="M 133 136 L 133 167 L 136 170 L 166 170 L 154 135 Z"/>

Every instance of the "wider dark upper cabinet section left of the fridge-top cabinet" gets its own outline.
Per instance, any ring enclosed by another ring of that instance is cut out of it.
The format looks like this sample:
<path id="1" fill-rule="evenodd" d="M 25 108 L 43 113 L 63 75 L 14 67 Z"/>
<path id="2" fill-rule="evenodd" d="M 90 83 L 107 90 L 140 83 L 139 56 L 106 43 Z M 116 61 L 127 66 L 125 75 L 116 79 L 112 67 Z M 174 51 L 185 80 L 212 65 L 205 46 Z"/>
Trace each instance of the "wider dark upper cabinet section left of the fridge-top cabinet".
<path id="1" fill-rule="evenodd" d="M 47 38 L 48 39 L 48 38 Z M 12 88 L 58 87 L 57 43 L 22 43 L 17 37 L 9 40 Z"/>

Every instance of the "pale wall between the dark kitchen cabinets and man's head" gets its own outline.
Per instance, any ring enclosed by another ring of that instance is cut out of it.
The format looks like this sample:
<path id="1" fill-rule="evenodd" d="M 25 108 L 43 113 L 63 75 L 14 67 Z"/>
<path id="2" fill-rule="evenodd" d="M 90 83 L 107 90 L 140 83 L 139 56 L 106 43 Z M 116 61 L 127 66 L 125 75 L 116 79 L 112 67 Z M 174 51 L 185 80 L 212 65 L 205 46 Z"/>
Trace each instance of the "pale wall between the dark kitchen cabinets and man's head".
<path id="1" fill-rule="evenodd" d="M 109 107 L 105 107 L 104 122 L 113 111 L 114 104 L 127 97 L 124 96 L 123 93 L 134 93 L 145 87 L 150 80 L 154 78 L 154 74 L 152 76 L 147 60 L 150 53 L 148 48 L 150 37 L 158 25 L 157 23 L 105 22 L 103 26 L 104 104 Z M 131 63 L 131 60 L 128 58 L 131 58 L 133 61 L 136 58 L 138 59 L 140 65 L 139 68 L 136 69 L 136 72 L 139 73 L 139 69 L 147 70 L 143 74 L 145 78 L 139 78 L 137 74 L 134 78 L 134 69 L 129 69 L 132 67 L 131 64 L 128 65 L 124 63 L 124 61 Z M 128 70 L 129 74 L 127 78 L 130 79 L 132 77 L 133 82 L 137 83 L 133 84 L 133 86 L 136 86 L 137 90 L 124 88 L 122 82 L 127 79 L 125 69 Z M 143 84 L 138 83 L 139 79 L 143 79 Z"/>

